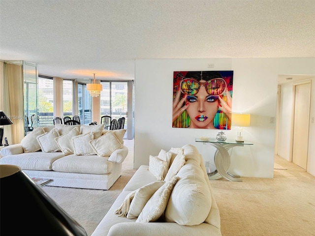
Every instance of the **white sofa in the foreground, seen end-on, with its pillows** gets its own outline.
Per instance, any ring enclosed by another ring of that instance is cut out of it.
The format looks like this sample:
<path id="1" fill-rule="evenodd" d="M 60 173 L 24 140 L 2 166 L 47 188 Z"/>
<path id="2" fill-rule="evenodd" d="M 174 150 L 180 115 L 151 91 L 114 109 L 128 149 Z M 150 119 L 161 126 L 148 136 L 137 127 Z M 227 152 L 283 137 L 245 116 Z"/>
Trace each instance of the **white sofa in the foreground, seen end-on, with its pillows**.
<path id="1" fill-rule="evenodd" d="M 123 235 L 221 236 L 220 212 L 194 146 L 150 156 L 92 234 Z"/>

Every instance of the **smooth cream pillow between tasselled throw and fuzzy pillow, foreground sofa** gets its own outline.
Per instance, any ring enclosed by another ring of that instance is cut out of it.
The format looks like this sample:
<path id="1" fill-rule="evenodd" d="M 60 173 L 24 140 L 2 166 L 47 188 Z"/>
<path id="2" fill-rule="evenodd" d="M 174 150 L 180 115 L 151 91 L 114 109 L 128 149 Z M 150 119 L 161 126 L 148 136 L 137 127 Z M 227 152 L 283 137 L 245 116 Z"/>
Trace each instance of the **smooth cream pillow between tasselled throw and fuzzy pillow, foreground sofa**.
<path id="1" fill-rule="evenodd" d="M 165 183 L 165 181 L 155 181 L 135 190 L 131 201 L 127 218 L 133 219 L 140 215 L 143 207 L 147 204 L 152 195 Z"/>

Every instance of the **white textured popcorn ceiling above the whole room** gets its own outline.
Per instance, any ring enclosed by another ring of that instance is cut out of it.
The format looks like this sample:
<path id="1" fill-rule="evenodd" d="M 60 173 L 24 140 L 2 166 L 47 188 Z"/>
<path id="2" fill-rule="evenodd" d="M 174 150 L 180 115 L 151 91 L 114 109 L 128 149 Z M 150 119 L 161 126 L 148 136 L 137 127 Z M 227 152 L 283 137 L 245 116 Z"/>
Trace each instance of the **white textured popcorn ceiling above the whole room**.
<path id="1" fill-rule="evenodd" d="M 0 59 L 53 77 L 134 79 L 135 59 L 290 57 L 315 57 L 314 0 L 0 0 Z"/>

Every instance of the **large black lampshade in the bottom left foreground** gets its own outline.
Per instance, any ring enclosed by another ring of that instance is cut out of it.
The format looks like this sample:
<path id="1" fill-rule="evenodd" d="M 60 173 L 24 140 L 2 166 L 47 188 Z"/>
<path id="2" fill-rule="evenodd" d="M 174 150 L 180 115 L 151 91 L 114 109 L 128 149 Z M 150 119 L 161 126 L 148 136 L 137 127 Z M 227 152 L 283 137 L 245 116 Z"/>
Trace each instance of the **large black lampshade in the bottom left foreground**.
<path id="1" fill-rule="evenodd" d="M 1 235 L 87 236 L 20 167 L 0 165 Z"/>

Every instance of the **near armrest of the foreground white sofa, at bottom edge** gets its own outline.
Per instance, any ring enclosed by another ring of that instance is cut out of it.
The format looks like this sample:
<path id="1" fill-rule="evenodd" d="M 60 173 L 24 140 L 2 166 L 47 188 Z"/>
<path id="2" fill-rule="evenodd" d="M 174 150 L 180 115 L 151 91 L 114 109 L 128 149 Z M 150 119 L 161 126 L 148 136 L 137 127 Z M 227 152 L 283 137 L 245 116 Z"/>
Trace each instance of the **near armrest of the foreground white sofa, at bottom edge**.
<path id="1" fill-rule="evenodd" d="M 221 230 L 209 225 L 202 223 L 200 225 L 179 225 L 177 223 L 168 222 L 150 222 L 150 223 L 137 223 L 137 222 L 124 222 L 113 225 L 107 236 L 139 236 L 139 235 L 150 235 L 150 236 L 183 236 L 183 235 L 211 235 L 221 236 Z"/>

